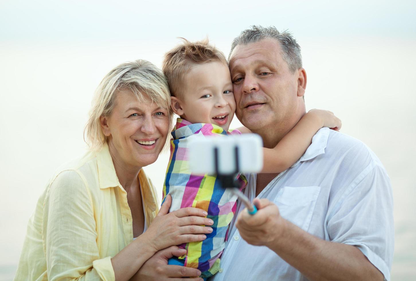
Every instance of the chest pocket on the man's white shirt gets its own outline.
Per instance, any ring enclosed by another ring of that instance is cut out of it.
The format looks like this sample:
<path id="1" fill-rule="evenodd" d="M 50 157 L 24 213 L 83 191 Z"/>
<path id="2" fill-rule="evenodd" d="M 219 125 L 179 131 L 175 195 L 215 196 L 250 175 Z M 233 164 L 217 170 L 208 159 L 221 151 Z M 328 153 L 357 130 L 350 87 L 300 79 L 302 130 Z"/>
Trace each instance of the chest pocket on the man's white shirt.
<path id="1" fill-rule="evenodd" d="M 280 215 L 307 231 L 321 187 L 283 187 L 275 199 Z"/>

